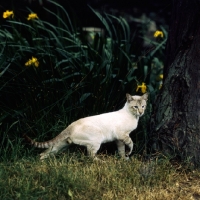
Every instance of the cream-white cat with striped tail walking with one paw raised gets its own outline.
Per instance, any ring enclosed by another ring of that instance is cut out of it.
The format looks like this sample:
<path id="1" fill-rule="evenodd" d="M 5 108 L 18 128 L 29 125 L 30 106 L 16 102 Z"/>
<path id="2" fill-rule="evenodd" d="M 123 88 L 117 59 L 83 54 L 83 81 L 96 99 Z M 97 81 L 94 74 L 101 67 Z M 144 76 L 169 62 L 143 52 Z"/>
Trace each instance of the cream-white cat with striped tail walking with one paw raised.
<path id="1" fill-rule="evenodd" d="M 37 148 L 47 148 L 40 154 L 40 159 L 49 157 L 63 150 L 70 144 L 83 145 L 93 159 L 102 143 L 115 141 L 120 157 L 128 160 L 133 150 L 133 142 L 129 134 L 137 128 L 139 118 L 146 109 L 148 93 L 142 96 L 126 94 L 124 107 L 115 112 L 81 118 L 71 123 L 55 138 L 46 142 L 35 142 L 28 136 L 26 139 Z M 125 154 L 125 145 L 129 151 Z"/>

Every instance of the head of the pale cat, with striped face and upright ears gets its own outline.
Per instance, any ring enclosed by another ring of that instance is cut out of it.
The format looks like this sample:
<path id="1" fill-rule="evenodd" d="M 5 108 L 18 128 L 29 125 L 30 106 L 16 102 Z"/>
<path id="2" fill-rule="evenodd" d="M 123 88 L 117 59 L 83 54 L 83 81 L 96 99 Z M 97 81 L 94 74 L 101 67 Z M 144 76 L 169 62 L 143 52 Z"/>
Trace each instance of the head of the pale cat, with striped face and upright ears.
<path id="1" fill-rule="evenodd" d="M 141 117 L 146 109 L 148 93 L 142 96 L 126 94 L 128 110 L 135 116 Z"/>

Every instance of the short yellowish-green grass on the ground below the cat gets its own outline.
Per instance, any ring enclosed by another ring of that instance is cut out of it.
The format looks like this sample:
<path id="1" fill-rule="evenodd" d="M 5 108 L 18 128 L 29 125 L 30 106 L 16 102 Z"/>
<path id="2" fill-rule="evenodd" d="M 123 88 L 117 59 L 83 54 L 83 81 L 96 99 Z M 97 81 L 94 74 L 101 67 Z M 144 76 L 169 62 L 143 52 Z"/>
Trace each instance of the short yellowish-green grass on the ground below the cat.
<path id="1" fill-rule="evenodd" d="M 169 159 L 143 162 L 102 156 L 62 154 L 1 163 L 0 199 L 198 199 L 200 171 Z"/>

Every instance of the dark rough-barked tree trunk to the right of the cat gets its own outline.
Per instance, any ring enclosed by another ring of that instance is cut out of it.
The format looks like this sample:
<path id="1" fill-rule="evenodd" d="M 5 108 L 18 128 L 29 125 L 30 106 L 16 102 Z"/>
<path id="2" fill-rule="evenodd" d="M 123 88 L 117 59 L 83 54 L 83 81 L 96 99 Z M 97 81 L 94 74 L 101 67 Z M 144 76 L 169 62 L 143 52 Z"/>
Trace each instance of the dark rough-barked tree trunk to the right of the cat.
<path id="1" fill-rule="evenodd" d="M 151 119 L 154 147 L 200 164 L 200 0 L 174 0 L 163 87 Z"/>

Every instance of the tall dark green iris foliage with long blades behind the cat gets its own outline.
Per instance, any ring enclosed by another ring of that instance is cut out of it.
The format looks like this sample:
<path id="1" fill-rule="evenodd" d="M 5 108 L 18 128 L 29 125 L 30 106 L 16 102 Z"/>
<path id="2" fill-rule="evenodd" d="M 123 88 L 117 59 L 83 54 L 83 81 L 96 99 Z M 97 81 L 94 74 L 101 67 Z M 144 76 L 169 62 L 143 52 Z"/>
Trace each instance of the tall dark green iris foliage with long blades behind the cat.
<path id="1" fill-rule="evenodd" d="M 124 18 L 91 8 L 106 35 L 96 33 L 89 43 L 66 10 L 49 2 L 57 13 L 44 10 L 57 24 L 31 13 L 27 21 L 5 19 L 0 29 L 0 128 L 17 121 L 8 138 L 28 133 L 46 139 L 77 118 L 116 110 L 125 93 L 134 94 L 150 76 L 144 59 L 132 53 L 134 38 Z M 152 60 L 145 58 L 150 65 Z"/>

